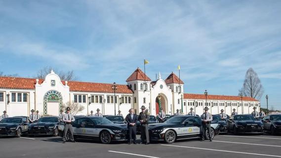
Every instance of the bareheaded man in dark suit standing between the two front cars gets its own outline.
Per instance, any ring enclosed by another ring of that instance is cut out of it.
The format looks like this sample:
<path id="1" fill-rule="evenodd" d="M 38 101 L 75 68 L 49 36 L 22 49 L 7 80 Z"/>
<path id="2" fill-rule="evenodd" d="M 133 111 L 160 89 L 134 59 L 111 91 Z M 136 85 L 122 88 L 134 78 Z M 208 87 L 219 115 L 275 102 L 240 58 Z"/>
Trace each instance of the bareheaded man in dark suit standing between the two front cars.
<path id="1" fill-rule="evenodd" d="M 136 143 L 136 131 L 137 131 L 137 115 L 134 114 L 134 109 L 131 108 L 129 110 L 129 114 L 126 116 L 126 121 L 128 123 L 128 128 L 129 128 L 129 139 L 128 139 L 128 144 L 131 144 L 131 139 L 133 139 L 133 143 Z"/>

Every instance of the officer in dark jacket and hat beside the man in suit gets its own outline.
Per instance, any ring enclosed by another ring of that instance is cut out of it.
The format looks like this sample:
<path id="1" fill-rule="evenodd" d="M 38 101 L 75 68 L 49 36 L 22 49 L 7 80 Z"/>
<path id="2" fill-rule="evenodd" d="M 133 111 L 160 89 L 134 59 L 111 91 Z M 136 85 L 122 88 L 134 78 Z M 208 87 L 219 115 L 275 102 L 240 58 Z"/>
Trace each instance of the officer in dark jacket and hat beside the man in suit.
<path id="1" fill-rule="evenodd" d="M 140 121 L 141 125 L 141 141 L 142 144 L 144 144 L 144 139 L 146 138 L 146 145 L 149 144 L 149 133 L 148 133 L 148 120 L 149 120 L 149 114 L 145 111 L 145 106 L 141 106 L 141 111 L 138 117 L 138 120 Z"/>

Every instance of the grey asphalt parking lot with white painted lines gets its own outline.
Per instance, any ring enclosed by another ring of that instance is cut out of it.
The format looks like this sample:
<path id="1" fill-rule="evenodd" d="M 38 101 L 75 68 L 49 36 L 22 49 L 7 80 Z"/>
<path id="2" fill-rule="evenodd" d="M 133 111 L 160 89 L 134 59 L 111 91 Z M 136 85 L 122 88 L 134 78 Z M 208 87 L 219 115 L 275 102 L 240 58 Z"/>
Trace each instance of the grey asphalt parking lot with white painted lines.
<path id="1" fill-rule="evenodd" d="M 63 144 L 61 137 L 0 138 L 1 158 L 280 158 L 280 150 L 281 136 L 266 134 L 218 135 L 213 142 L 193 139 L 150 145 L 126 142 L 105 145 L 81 139 Z"/>

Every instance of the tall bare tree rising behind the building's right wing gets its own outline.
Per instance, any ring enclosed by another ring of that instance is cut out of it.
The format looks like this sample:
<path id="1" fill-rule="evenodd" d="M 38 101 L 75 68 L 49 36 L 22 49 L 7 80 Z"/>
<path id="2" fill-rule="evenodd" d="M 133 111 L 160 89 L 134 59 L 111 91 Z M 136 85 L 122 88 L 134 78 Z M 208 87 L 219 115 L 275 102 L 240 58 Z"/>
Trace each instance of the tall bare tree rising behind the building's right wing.
<path id="1" fill-rule="evenodd" d="M 239 90 L 244 96 L 252 97 L 260 100 L 264 93 L 263 86 L 257 73 L 249 68 L 246 72 L 243 87 Z"/>

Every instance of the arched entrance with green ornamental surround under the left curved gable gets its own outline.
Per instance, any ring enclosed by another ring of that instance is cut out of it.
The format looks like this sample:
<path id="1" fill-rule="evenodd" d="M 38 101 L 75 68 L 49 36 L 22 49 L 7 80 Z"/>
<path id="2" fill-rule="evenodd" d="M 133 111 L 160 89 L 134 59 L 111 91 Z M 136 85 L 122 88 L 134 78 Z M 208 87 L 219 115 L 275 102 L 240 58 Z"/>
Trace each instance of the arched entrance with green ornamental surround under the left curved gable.
<path id="1" fill-rule="evenodd" d="M 62 95 L 56 90 L 49 90 L 44 95 L 43 114 L 58 116 L 62 109 Z"/>

